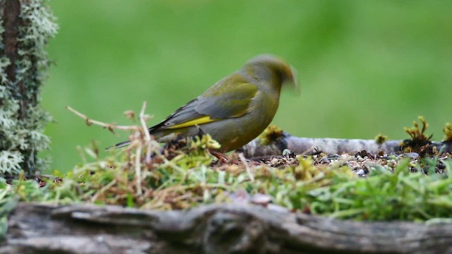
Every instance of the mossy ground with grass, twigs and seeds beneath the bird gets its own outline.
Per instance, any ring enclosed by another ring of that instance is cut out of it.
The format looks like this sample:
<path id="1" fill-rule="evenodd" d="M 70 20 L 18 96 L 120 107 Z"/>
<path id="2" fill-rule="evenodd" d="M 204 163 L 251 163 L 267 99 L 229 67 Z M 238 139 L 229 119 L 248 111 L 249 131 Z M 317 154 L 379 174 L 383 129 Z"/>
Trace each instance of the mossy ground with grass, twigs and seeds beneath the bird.
<path id="1" fill-rule="evenodd" d="M 67 174 L 55 171 L 40 181 L 20 176 L 11 184 L 1 179 L 2 210 L 11 207 L 11 200 L 153 210 L 232 202 L 340 219 L 450 220 L 450 153 L 286 152 L 258 161 L 232 154 L 228 163 L 221 163 L 208 151 L 218 145 L 208 135 L 165 147 L 145 141 L 140 133 L 135 137 L 131 146 L 105 158 L 98 157 L 95 145 L 83 149 L 83 162 Z"/>

